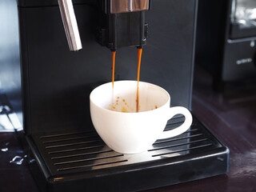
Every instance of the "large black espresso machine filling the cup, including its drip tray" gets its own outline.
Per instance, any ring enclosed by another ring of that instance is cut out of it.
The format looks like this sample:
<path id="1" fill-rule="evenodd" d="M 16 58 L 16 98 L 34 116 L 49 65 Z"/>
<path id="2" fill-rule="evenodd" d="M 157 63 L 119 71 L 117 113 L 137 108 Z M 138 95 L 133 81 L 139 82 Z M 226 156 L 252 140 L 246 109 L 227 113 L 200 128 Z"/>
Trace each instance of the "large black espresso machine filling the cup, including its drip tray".
<path id="1" fill-rule="evenodd" d="M 228 148 L 196 117 L 190 130 L 141 154 L 111 150 L 90 120 L 91 90 L 111 81 L 111 51 L 115 80 L 135 80 L 137 48 L 140 80 L 166 89 L 171 106 L 191 110 L 197 8 L 197 0 L 18 1 L 21 59 L 10 67 L 21 74 L 20 111 L 38 189 L 138 191 L 228 171 Z M 175 116 L 166 130 L 183 121 Z"/>

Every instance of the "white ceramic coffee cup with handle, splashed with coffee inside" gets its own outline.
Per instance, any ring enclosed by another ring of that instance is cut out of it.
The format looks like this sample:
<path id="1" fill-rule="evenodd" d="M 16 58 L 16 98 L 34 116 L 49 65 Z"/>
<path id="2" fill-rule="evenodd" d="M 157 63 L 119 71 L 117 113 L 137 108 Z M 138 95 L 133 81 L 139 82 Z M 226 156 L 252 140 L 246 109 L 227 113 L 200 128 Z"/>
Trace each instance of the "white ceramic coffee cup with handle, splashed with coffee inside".
<path id="1" fill-rule="evenodd" d="M 139 82 L 138 87 L 138 112 L 136 81 L 114 82 L 114 89 L 112 82 L 108 82 L 90 93 L 94 127 L 106 145 L 119 153 L 137 154 L 148 150 L 157 139 L 182 134 L 192 123 L 192 115 L 185 107 L 170 107 L 166 90 L 148 82 Z M 174 130 L 163 131 L 175 114 L 183 114 L 185 122 Z"/>

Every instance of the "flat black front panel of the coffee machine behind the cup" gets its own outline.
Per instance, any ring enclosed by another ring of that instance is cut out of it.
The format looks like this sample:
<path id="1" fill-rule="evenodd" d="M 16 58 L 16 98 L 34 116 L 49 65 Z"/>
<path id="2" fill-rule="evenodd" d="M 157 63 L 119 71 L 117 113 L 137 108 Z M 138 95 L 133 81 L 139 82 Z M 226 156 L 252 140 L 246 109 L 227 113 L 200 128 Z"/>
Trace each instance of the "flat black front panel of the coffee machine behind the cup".
<path id="1" fill-rule="evenodd" d="M 165 88 L 172 106 L 190 109 L 197 1 L 153 5 L 145 13 L 150 27 L 140 79 Z M 110 82 L 112 72 L 110 50 L 95 41 L 97 10 L 74 6 L 83 46 L 75 53 L 68 48 L 58 6 L 18 10 L 26 134 L 87 129 L 90 91 Z M 115 80 L 137 80 L 137 62 L 136 48 L 118 50 Z"/>

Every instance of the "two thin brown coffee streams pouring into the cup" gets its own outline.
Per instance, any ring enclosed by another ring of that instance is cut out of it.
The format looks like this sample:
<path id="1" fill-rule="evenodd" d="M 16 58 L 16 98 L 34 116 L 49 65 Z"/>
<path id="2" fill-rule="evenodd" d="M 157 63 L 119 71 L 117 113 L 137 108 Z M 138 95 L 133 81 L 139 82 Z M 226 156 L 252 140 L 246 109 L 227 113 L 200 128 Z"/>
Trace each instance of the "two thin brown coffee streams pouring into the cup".
<path id="1" fill-rule="evenodd" d="M 114 65 L 115 65 L 115 54 L 116 51 L 112 52 L 112 100 L 114 101 Z M 142 61 L 142 48 L 138 49 L 138 72 L 137 72 L 137 98 L 136 98 L 136 112 L 139 110 L 139 101 L 138 101 L 138 82 L 139 82 L 139 74 L 141 69 L 141 61 Z M 112 102 L 114 103 L 114 102 Z M 115 109 L 114 106 L 112 106 Z"/>

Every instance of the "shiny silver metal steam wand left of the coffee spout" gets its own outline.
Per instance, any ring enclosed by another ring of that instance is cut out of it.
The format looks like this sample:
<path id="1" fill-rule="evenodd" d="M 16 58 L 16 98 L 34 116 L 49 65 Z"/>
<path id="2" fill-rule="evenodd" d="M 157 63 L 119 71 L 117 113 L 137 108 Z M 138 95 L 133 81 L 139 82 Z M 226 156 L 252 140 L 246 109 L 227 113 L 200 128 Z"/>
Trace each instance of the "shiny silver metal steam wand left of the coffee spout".
<path id="1" fill-rule="evenodd" d="M 78 31 L 78 23 L 74 15 L 74 7 L 71 0 L 58 0 L 58 6 L 62 14 L 62 22 L 66 32 L 70 50 L 81 50 L 82 43 Z"/>

